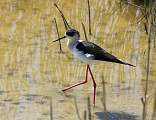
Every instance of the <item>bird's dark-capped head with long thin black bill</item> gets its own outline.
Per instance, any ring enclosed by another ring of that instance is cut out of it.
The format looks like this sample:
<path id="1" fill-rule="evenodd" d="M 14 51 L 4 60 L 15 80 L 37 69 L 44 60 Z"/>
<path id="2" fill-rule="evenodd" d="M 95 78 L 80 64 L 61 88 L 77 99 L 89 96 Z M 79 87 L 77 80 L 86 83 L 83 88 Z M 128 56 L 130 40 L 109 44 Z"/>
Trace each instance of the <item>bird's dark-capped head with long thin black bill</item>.
<path id="1" fill-rule="evenodd" d="M 57 39 L 57 40 L 54 40 L 53 42 L 56 42 L 58 40 L 61 40 L 61 39 L 64 39 L 64 38 L 68 38 L 69 40 L 79 40 L 80 38 L 80 34 L 77 30 L 75 29 L 69 29 L 65 32 L 65 36 Z"/>

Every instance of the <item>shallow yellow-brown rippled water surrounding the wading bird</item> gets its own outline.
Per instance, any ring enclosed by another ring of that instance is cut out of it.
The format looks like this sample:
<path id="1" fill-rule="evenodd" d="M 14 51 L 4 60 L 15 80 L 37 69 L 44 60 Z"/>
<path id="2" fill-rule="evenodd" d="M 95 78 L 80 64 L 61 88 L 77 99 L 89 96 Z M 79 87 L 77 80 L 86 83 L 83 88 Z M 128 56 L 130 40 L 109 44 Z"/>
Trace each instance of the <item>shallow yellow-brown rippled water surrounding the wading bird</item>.
<path id="1" fill-rule="evenodd" d="M 57 39 L 53 18 L 62 36 L 62 19 L 54 2 L 84 39 L 81 22 L 88 33 L 87 2 L 65 0 L 1 0 L 0 1 L 0 120 L 75 120 L 78 119 L 74 98 L 81 119 L 91 100 L 92 117 L 103 120 L 102 98 L 105 98 L 109 120 L 141 120 L 146 78 L 147 40 L 141 11 L 135 7 L 108 0 L 91 1 L 92 34 L 89 40 L 105 48 L 136 68 L 99 62 L 91 65 L 97 81 L 96 105 L 92 105 L 92 82 L 67 93 L 61 90 L 84 79 L 84 65 L 75 60 Z M 82 4 L 84 2 L 84 4 Z M 156 49 L 152 41 L 148 118 L 153 113 L 156 76 Z M 105 81 L 105 94 L 103 84 Z M 106 112 L 106 111 L 105 111 Z"/>

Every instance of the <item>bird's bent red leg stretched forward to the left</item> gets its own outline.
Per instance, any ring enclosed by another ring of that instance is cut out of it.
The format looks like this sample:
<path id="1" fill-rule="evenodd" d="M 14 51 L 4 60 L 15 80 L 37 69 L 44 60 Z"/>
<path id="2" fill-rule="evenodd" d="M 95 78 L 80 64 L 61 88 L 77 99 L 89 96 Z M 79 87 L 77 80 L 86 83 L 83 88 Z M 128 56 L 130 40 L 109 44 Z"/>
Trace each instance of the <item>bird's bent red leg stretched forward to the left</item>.
<path id="1" fill-rule="evenodd" d="M 82 85 L 82 84 L 87 83 L 88 69 L 89 69 L 89 65 L 87 64 L 87 67 L 86 67 L 86 75 L 85 75 L 85 80 L 84 80 L 84 81 L 82 81 L 82 82 L 80 82 L 80 83 L 77 83 L 77 84 L 75 84 L 75 85 L 72 85 L 72 86 L 70 86 L 70 87 L 67 87 L 67 88 L 63 89 L 62 91 L 65 92 L 65 91 L 67 91 L 67 90 L 69 90 L 69 89 L 71 89 L 71 88 L 73 88 L 73 87 L 76 87 L 76 86 L 79 86 L 79 85 Z"/>

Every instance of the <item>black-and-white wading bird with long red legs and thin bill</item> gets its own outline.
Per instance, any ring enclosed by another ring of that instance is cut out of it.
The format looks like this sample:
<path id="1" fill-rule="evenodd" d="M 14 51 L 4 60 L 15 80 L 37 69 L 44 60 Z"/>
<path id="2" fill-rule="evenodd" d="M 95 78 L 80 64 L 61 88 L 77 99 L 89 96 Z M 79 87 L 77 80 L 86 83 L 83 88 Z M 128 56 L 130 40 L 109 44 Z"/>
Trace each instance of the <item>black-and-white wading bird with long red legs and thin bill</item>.
<path id="1" fill-rule="evenodd" d="M 135 67 L 132 64 L 129 64 L 127 62 L 123 62 L 122 60 L 118 59 L 116 56 L 110 54 L 109 52 L 105 51 L 100 46 L 96 45 L 93 42 L 89 42 L 86 40 L 80 39 L 80 33 L 74 29 L 70 28 L 65 32 L 65 35 L 57 40 L 54 40 L 53 42 L 62 40 L 64 38 L 67 38 L 67 46 L 71 53 L 75 56 L 75 58 L 80 59 L 82 62 L 86 63 L 86 71 L 85 71 L 85 79 L 84 81 L 74 84 L 70 87 L 67 87 L 63 89 L 63 92 L 66 92 L 70 90 L 71 88 L 74 88 L 76 86 L 82 85 L 87 83 L 88 80 L 88 72 L 91 75 L 92 81 L 93 81 L 93 87 L 94 87 L 94 93 L 93 93 L 93 104 L 95 105 L 95 96 L 96 96 L 96 81 L 94 79 L 93 73 L 90 68 L 90 63 L 93 61 L 106 61 L 106 62 L 112 62 L 112 63 L 118 63 L 123 65 L 128 65 Z"/>

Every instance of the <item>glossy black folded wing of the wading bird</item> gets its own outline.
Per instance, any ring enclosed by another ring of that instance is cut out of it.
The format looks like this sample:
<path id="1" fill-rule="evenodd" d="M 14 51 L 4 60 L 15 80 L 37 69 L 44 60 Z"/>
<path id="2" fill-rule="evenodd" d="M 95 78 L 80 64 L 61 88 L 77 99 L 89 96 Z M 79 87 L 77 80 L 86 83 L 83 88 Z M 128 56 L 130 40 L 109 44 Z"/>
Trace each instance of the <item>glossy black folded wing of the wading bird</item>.
<path id="1" fill-rule="evenodd" d="M 106 52 L 104 49 L 102 49 L 101 47 L 99 47 L 98 45 L 92 42 L 88 42 L 88 41 L 79 42 L 76 48 L 79 49 L 80 51 L 83 51 L 84 54 L 88 53 L 88 54 L 94 55 L 95 60 L 115 62 L 115 63 L 133 66 L 131 64 L 122 62 L 117 57 L 115 57 L 114 55 L 111 55 L 110 53 Z"/>

